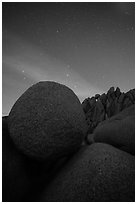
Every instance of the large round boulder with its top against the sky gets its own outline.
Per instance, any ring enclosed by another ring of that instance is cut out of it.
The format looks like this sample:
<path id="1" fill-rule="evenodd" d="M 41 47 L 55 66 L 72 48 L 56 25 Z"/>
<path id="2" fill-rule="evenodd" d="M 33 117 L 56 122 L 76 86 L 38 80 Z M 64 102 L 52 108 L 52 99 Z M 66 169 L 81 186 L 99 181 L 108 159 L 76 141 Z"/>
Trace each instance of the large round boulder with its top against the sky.
<path id="1" fill-rule="evenodd" d="M 37 160 L 71 154 L 87 133 L 78 97 L 65 85 L 52 81 L 33 85 L 16 101 L 8 126 L 17 148 Z"/>

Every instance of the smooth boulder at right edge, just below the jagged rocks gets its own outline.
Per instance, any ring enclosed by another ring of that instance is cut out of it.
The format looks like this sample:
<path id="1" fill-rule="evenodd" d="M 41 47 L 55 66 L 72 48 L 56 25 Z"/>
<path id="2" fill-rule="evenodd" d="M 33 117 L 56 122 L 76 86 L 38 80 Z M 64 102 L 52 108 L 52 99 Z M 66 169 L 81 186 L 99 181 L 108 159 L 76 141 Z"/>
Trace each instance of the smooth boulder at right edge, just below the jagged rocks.
<path id="1" fill-rule="evenodd" d="M 100 123 L 88 141 L 111 144 L 128 153 L 135 154 L 135 106 Z M 89 142 L 89 143 L 90 143 Z"/>

